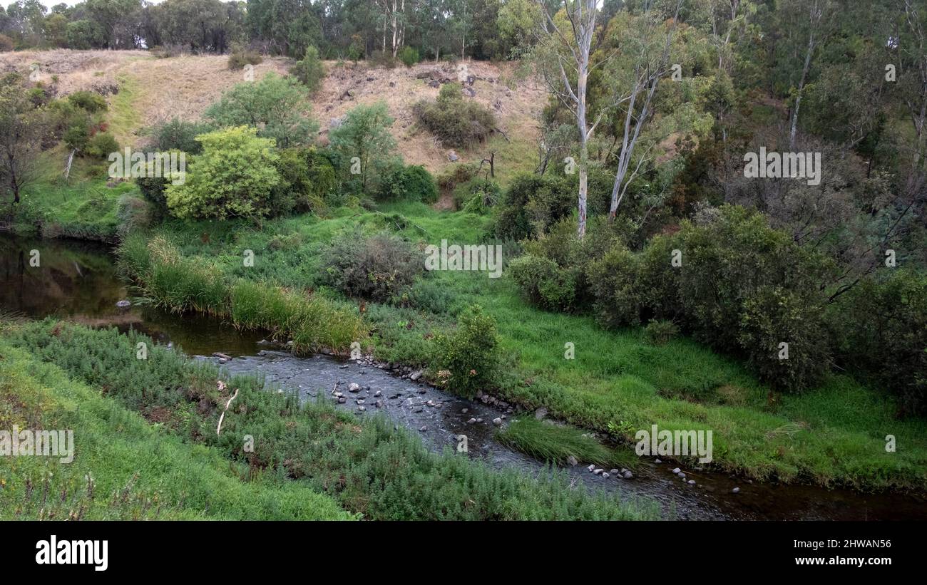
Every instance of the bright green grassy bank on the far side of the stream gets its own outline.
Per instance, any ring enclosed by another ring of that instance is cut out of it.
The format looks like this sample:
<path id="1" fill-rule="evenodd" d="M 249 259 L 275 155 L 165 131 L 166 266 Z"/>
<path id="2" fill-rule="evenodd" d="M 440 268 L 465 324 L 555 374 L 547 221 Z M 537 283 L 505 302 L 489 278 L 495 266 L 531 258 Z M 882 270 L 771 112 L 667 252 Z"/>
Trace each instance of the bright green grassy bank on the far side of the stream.
<path id="1" fill-rule="evenodd" d="M 489 218 L 438 212 L 421 204 L 333 210 L 329 218 L 270 221 L 262 229 L 234 222 L 169 222 L 157 235 L 184 262 L 209 266 L 228 282 L 250 281 L 287 290 L 312 290 L 326 298 L 320 254 L 337 235 L 358 226 L 367 233 L 391 230 L 417 243 L 472 243 Z M 123 244 L 127 268 L 146 294 L 173 302 L 150 282 L 150 236 Z M 245 266 L 245 250 L 255 253 Z M 141 267 L 141 268 L 138 268 Z M 147 272 L 146 272 L 147 270 Z M 546 406 L 552 416 L 619 440 L 636 429 L 712 429 L 715 467 L 754 479 L 780 479 L 863 490 L 927 488 L 927 423 L 897 419 L 895 404 L 845 376 L 831 376 L 802 394 L 777 395 L 745 368 L 696 342 L 677 339 L 654 346 L 641 330 L 607 331 L 590 317 L 537 310 L 504 275 L 437 272 L 415 285 L 412 306 L 364 306 L 369 344 L 387 361 L 426 366 L 430 340 L 452 327 L 465 305 L 485 307 L 499 324 L 507 367 L 500 394 L 527 407 Z M 565 343 L 576 345 L 565 358 Z M 897 451 L 885 452 L 895 435 Z"/>

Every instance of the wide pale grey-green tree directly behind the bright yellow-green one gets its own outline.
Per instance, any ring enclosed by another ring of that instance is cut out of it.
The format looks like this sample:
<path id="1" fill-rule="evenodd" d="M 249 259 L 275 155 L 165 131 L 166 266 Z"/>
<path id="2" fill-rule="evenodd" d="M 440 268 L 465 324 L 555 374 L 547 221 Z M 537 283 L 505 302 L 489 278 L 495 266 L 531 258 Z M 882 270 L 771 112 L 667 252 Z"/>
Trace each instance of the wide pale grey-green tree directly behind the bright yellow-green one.
<path id="1" fill-rule="evenodd" d="M 258 135 L 273 138 L 286 148 L 311 144 L 318 124 L 303 112 L 309 109 L 299 81 L 269 72 L 260 81 L 239 83 L 206 110 L 220 126 L 253 126 Z"/>

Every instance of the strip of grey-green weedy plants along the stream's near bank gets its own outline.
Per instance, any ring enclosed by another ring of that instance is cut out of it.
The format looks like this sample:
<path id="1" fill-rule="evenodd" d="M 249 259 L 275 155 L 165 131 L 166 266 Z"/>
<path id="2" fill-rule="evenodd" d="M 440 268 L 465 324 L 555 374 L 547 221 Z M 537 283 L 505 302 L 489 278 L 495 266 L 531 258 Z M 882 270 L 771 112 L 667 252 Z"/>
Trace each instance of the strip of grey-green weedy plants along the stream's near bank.
<path id="1" fill-rule="evenodd" d="M 464 456 L 433 454 L 417 436 L 393 429 L 384 417 L 359 421 L 329 403 L 300 405 L 289 392 L 267 392 L 253 377 L 224 380 L 215 367 L 134 333 L 46 320 L 15 326 L 6 339 L 17 351 L 59 367 L 71 380 L 105 392 L 109 401 L 139 413 L 187 448 L 222 454 L 243 478 L 273 478 L 286 489 L 321 493 L 367 519 L 638 519 L 658 514 L 653 504 L 588 495 L 559 475 L 529 479 Z M 147 359 L 136 357 L 139 342 L 148 346 Z M 253 450 L 245 446 L 247 435 L 253 437 Z M 150 450 L 139 447 L 137 453 L 150 460 Z"/>

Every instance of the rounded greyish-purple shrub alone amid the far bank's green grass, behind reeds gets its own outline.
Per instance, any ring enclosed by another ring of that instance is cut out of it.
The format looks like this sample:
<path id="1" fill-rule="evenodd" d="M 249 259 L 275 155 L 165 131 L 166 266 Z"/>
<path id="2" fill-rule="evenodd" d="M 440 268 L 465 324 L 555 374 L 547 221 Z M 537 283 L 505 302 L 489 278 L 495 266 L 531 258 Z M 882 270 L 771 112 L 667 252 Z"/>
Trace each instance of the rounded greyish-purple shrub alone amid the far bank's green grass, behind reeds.
<path id="1" fill-rule="evenodd" d="M 396 236 L 350 233 L 324 251 L 323 266 L 326 282 L 339 291 L 385 302 L 413 283 L 425 270 L 425 259 Z"/>

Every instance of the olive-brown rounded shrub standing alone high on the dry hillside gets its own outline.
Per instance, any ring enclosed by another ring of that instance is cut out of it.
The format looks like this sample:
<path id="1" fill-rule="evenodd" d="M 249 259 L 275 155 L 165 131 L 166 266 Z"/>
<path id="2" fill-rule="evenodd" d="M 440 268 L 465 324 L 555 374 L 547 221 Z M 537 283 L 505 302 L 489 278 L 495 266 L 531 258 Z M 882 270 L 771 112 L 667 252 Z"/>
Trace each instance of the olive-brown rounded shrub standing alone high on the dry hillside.
<path id="1" fill-rule="evenodd" d="M 461 86 L 445 83 L 438 100 L 422 100 L 413 106 L 419 123 L 448 146 L 483 142 L 496 127 L 495 115 L 474 101 L 465 100 Z"/>

